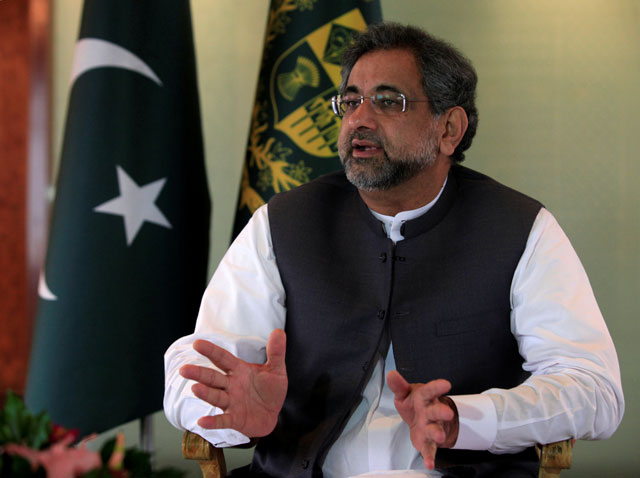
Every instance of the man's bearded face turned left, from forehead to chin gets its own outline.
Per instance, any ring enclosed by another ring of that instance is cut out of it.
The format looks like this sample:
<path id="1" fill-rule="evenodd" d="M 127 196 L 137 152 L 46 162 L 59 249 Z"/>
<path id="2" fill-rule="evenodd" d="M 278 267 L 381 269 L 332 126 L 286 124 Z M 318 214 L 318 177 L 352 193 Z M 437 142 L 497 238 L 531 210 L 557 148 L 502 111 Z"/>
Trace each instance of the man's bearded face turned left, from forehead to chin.
<path id="1" fill-rule="evenodd" d="M 365 99 L 342 120 L 338 152 L 347 178 L 358 189 L 390 189 L 436 160 L 437 124 L 411 52 L 380 50 L 363 55 L 351 70 L 345 95 L 397 93 L 422 101 L 408 101 L 404 113 L 386 116 Z"/>

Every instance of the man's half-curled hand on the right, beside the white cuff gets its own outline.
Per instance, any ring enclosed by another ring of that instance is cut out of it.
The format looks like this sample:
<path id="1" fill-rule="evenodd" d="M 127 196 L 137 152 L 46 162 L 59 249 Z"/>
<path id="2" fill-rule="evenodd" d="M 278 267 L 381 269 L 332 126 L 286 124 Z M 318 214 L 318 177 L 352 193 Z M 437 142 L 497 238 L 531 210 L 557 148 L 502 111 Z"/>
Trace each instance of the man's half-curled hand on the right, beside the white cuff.
<path id="1" fill-rule="evenodd" d="M 411 443 L 422 454 L 424 466 L 433 470 L 438 448 L 451 448 L 458 439 L 455 404 L 443 396 L 451 384 L 441 379 L 408 383 L 395 370 L 387 374 L 387 384 L 398 413 L 409 425 Z"/>

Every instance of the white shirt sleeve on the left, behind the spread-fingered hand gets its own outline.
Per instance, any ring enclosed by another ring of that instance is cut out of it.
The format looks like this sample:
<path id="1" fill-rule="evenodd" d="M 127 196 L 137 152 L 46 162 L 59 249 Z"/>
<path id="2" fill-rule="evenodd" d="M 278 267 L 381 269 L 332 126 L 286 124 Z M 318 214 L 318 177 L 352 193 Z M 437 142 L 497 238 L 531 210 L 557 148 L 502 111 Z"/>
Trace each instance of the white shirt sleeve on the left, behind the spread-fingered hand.
<path id="1" fill-rule="evenodd" d="M 198 426 L 200 417 L 222 411 L 195 397 L 191 391 L 195 382 L 184 379 L 179 370 L 185 364 L 215 368 L 193 349 L 193 342 L 199 339 L 247 362 L 264 363 L 269 334 L 284 328 L 284 302 L 265 205 L 222 258 L 203 295 L 194 333 L 174 342 L 165 353 L 164 412 L 173 426 L 193 431 L 219 447 L 249 442 L 235 430 Z"/>

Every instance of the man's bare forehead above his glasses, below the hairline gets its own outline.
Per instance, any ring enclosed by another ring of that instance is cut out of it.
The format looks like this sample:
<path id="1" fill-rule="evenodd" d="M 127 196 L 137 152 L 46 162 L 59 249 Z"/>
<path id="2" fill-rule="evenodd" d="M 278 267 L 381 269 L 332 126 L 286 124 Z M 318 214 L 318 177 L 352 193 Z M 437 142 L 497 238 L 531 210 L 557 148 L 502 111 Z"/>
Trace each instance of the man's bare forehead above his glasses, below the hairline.
<path id="1" fill-rule="evenodd" d="M 422 93 L 420 72 L 410 51 L 395 49 L 366 53 L 353 65 L 347 81 L 347 91 L 362 94 L 389 87 L 408 96 Z"/>

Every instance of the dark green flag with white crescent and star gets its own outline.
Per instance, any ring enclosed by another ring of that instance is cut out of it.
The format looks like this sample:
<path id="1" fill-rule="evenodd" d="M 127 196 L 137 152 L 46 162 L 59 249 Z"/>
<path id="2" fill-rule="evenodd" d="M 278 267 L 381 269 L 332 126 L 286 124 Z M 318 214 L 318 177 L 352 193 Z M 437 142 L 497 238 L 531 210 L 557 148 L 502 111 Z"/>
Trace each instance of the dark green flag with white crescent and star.
<path id="1" fill-rule="evenodd" d="M 161 409 L 209 194 L 187 0 L 85 0 L 26 401 L 101 432 Z"/>

